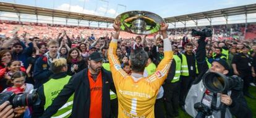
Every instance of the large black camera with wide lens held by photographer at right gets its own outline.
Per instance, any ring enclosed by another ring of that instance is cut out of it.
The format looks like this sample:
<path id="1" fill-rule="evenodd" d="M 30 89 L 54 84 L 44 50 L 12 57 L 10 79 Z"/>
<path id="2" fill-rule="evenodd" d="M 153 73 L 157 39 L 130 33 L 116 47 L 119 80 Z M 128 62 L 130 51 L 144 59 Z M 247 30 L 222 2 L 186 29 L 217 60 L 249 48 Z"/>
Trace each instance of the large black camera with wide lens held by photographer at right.
<path id="1" fill-rule="evenodd" d="M 243 81 L 238 76 L 225 76 L 221 73 L 208 72 L 203 75 L 203 85 L 210 91 L 204 93 L 202 101 L 194 104 L 194 108 L 198 114 L 196 118 L 211 116 L 213 111 L 225 109 L 223 103 L 218 103 L 219 93 L 227 94 L 229 90 L 242 90 Z M 220 94 L 219 94 L 220 95 Z"/>

